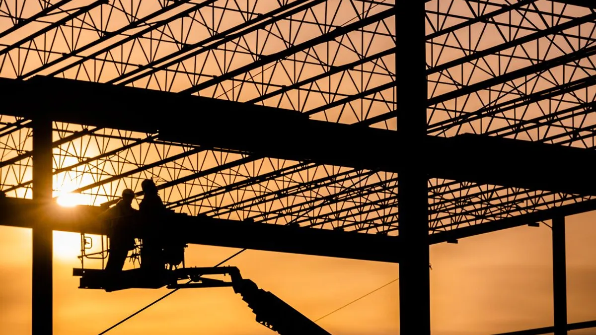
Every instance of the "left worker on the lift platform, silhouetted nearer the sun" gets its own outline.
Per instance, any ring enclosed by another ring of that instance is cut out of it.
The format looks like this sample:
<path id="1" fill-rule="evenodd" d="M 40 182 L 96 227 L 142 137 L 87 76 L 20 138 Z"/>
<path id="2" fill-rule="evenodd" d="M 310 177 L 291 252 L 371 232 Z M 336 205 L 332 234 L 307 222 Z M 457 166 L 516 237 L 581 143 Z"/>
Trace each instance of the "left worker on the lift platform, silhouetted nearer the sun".
<path id="1" fill-rule="evenodd" d="M 135 249 L 135 221 L 137 210 L 132 208 L 134 191 L 122 191 L 122 198 L 103 213 L 103 218 L 108 224 L 108 237 L 110 238 L 110 253 L 105 270 L 121 271 L 130 250 Z"/>

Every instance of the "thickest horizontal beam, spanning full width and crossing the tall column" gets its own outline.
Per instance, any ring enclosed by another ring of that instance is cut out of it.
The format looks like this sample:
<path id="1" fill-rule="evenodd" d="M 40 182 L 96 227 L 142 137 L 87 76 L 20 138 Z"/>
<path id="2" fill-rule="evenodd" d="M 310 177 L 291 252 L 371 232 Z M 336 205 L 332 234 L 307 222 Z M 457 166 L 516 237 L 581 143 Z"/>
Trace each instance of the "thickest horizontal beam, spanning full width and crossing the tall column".
<path id="1" fill-rule="evenodd" d="M 2 114 L 35 118 L 41 111 L 55 121 L 356 169 L 398 172 L 399 151 L 418 145 L 395 131 L 311 120 L 281 108 L 52 77 L 0 79 L 0 98 Z M 425 141 L 430 178 L 596 195 L 589 169 L 596 163 L 594 150 L 473 134 L 429 135 Z M 545 160 L 574 164 L 552 171 L 542 168 Z"/>

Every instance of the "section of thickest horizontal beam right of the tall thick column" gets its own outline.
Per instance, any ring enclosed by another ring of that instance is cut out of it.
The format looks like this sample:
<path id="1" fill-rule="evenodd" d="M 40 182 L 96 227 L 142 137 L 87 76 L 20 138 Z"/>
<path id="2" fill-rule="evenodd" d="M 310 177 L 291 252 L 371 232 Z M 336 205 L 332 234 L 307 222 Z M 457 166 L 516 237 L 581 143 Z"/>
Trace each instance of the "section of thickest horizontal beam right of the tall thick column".
<path id="1" fill-rule="evenodd" d="M 474 134 L 430 137 L 429 141 L 433 143 L 431 177 L 596 195 L 596 181 L 589 177 L 593 173 L 590 166 L 596 163 L 592 149 Z M 545 168 L 551 159 L 573 164 Z"/>

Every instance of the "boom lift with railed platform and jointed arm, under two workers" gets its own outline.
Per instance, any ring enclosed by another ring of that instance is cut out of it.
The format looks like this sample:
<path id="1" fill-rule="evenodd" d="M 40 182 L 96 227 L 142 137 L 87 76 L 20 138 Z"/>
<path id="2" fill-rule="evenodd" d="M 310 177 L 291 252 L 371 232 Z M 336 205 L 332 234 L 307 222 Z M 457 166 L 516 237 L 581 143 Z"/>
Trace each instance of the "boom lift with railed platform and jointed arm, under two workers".
<path id="1" fill-rule="evenodd" d="M 305 315 L 285 303 L 275 294 L 259 289 L 249 279 L 242 278 L 240 270 L 235 266 L 221 266 L 209 268 L 186 267 L 184 259 L 181 266 L 163 269 L 128 269 L 124 271 L 108 272 L 104 269 L 105 259 L 108 258 L 109 240 L 100 235 L 101 251 L 88 253 L 93 246 L 91 236 L 81 234 L 81 268 L 73 269 L 73 275 L 80 277 L 79 289 L 97 289 L 107 292 L 126 289 L 192 289 L 208 287 L 232 287 L 234 293 L 240 294 L 256 315 L 256 321 L 265 327 L 277 331 L 281 335 L 331 335 Z M 142 243 L 135 246 L 135 250 L 128 258 L 139 259 Z M 85 268 L 85 259 L 101 261 L 101 269 Z M 142 262 L 142 259 L 141 259 Z M 229 281 L 209 278 L 205 276 L 224 275 Z"/>

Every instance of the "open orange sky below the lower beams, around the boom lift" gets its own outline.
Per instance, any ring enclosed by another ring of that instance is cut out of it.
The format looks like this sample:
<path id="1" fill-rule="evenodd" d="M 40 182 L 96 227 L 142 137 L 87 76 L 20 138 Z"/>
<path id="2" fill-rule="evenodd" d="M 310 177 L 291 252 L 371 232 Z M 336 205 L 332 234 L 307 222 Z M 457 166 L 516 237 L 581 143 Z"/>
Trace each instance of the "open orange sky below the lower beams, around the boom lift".
<path id="1" fill-rule="evenodd" d="M 567 220 L 569 321 L 596 319 L 594 213 Z M 54 334 L 98 334 L 162 290 L 77 289 L 77 234 L 55 233 Z M 552 324 L 550 229 L 520 227 L 431 247 L 435 335 L 493 334 Z M 193 246 L 188 264 L 210 266 L 235 249 Z M 30 231 L 0 227 L 0 334 L 30 333 Z M 249 250 L 229 265 L 311 319 L 398 277 L 398 265 Z M 398 283 L 318 323 L 331 334 L 398 334 Z M 274 334 L 230 288 L 179 290 L 108 334 Z M 594 334 L 594 330 L 572 334 Z"/>

